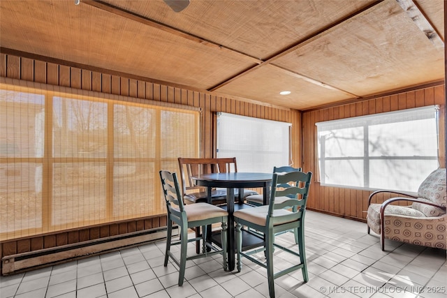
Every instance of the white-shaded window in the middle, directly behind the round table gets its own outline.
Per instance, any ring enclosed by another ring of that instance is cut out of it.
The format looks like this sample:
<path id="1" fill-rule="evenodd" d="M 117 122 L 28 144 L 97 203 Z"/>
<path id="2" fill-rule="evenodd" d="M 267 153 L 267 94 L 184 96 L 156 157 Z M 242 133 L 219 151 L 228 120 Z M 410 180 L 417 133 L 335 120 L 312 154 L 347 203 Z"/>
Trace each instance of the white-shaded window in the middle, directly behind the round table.
<path id="1" fill-rule="evenodd" d="M 272 172 L 289 165 L 291 124 L 219 112 L 217 157 L 236 157 L 239 172 Z"/>

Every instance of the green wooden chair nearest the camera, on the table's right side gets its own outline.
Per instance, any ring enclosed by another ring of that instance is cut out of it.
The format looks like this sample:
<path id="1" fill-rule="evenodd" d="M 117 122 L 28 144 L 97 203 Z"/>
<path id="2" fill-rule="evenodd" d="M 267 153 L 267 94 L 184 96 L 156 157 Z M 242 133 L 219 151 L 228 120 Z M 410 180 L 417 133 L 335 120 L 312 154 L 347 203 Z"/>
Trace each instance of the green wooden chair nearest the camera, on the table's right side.
<path id="1" fill-rule="evenodd" d="M 240 271 L 242 268 L 241 255 L 261 267 L 266 268 L 270 297 L 274 297 L 274 279 L 284 274 L 302 269 L 304 281 L 307 282 L 309 280 L 305 253 L 304 218 L 311 179 L 312 172 L 274 173 L 269 204 L 237 210 L 233 214 L 236 223 L 237 271 Z M 277 188 L 281 184 L 294 183 L 297 183 L 296 186 Z M 281 200 L 281 203 L 277 202 L 279 200 Z M 254 229 L 263 234 L 266 262 L 263 262 L 260 258 L 256 258 L 254 255 L 254 253 L 258 253 L 256 248 L 249 251 L 242 251 L 242 226 Z M 298 253 L 274 243 L 274 234 L 294 229 L 298 230 Z M 291 253 L 292 255 L 298 255 L 300 257 L 300 263 L 274 273 L 273 247 Z"/>

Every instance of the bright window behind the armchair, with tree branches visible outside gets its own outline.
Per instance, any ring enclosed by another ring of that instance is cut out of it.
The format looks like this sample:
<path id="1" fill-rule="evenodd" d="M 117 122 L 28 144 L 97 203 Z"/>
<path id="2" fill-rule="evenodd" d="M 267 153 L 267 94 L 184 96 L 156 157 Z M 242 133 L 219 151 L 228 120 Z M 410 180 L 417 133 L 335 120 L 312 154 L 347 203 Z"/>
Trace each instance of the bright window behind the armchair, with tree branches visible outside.
<path id="1" fill-rule="evenodd" d="M 418 191 L 438 165 L 437 106 L 319 122 L 321 185 Z"/>

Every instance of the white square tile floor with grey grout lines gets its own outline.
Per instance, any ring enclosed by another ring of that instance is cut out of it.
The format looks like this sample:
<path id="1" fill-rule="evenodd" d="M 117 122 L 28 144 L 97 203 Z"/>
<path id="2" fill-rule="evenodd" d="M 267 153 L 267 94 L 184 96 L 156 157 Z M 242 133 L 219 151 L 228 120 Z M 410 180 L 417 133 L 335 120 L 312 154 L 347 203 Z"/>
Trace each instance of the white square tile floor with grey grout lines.
<path id="1" fill-rule="evenodd" d="M 386 241 L 382 252 L 365 223 L 312 211 L 305 223 L 309 282 L 300 270 L 282 276 L 275 280 L 277 297 L 447 298 L 446 251 Z M 277 241 L 292 246 L 293 234 Z M 244 260 L 240 273 L 225 272 L 219 255 L 188 261 L 178 287 L 177 267 L 163 267 L 163 247 L 161 241 L 2 276 L 0 297 L 268 297 L 265 269 Z M 278 269 L 293 262 L 279 251 L 274 258 Z"/>

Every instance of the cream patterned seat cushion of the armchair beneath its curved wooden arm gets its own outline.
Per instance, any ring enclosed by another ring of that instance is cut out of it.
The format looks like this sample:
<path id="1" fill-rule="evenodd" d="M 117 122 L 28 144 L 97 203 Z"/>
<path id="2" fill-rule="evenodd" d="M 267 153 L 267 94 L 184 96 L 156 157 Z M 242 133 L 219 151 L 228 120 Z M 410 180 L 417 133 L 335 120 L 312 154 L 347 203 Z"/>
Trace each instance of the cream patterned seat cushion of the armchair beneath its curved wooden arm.
<path id="1" fill-rule="evenodd" d="M 372 230 L 377 234 L 381 233 L 380 207 L 381 204 L 370 204 L 367 211 L 367 223 L 369 225 L 369 228 L 372 228 Z M 397 206 L 391 204 L 385 208 L 384 215 L 425 217 L 425 215 L 417 209 L 413 209 L 407 206 Z"/>

